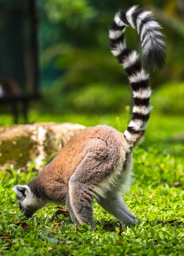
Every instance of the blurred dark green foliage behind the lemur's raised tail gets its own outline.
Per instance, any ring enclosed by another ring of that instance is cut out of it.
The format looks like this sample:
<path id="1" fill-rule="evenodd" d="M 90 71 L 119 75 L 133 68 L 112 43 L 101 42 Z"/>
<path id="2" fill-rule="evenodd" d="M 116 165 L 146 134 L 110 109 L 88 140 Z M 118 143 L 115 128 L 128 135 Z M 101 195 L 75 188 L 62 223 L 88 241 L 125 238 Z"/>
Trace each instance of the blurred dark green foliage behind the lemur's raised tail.
<path id="1" fill-rule="evenodd" d="M 183 0 L 40 0 L 37 4 L 43 94 L 40 108 L 44 112 L 122 112 L 131 105 L 127 75 L 109 50 L 107 27 L 118 9 L 133 4 L 153 10 L 166 34 L 166 68 L 151 74 L 151 86 L 183 80 Z M 127 29 L 126 43 L 140 49 L 134 29 Z M 165 100 L 162 95 L 163 102 L 172 97 L 173 89 L 167 92 Z M 164 112 L 166 109 L 167 104 L 160 107 Z"/>

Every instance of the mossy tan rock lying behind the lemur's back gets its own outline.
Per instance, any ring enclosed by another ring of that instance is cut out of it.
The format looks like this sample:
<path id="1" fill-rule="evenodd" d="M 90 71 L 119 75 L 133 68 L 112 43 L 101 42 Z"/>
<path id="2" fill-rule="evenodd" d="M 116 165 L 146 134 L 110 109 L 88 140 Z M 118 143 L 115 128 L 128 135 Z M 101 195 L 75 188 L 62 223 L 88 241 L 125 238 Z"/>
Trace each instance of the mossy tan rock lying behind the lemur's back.
<path id="1" fill-rule="evenodd" d="M 0 127 L 0 171 L 13 164 L 26 169 L 30 162 L 40 169 L 49 156 L 63 148 L 85 126 L 71 123 L 36 123 Z"/>

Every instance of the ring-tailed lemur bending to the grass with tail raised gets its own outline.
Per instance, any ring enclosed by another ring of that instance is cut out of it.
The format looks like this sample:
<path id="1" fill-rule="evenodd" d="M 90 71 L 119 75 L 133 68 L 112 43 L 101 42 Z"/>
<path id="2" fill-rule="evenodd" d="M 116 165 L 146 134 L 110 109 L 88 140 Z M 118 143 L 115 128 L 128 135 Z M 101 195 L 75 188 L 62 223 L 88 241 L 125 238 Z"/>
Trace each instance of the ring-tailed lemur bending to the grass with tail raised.
<path id="1" fill-rule="evenodd" d="M 137 29 L 142 44 L 144 67 L 163 67 L 165 59 L 160 25 L 150 11 L 133 6 L 119 11 L 109 26 L 111 51 L 129 75 L 133 90 L 133 114 L 124 134 L 98 125 L 75 135 L 27 185 L 17 185 L 18 205 L 32 216 L 47 202 L 66 204 L 74 224 L 90 223 L 95 228 L 92 201 L 112 213 L 124 225 L 135 223 L 135 216 L 121 198 L 131 180 L 132 153 L 144 135 L 151 106 L 149 75 L 135 50 L 126 48 L 126 26 Z"/>

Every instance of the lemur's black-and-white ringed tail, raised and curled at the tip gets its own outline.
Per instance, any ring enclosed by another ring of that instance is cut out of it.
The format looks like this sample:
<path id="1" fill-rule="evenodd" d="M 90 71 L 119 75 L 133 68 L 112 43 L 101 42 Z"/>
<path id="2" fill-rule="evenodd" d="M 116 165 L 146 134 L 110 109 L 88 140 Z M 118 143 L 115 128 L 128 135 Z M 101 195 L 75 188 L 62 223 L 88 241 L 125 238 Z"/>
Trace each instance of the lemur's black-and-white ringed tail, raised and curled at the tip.
<path id="1" fill-rule="evenodd" d="M 126 48 L 124 31 L 126 26 L 137 29 L 142 45 L 142 62 L 144 67 L 161 68 L 165 61 L 165 46 L 160 25 L 153 19 L 150 11 L 133 6 L 126 11 L 116 13 L 109 26 L 110 47 L 129 75 L 133 90 L 133 115 L 124 132 L 130 146 L 135 145 L 144 135 L 152 107 L 149 104 L 151 88 L 149 75 L 142 68 L 139 54 Z M 147 69 L 146 68 L 146 69 Z"/>

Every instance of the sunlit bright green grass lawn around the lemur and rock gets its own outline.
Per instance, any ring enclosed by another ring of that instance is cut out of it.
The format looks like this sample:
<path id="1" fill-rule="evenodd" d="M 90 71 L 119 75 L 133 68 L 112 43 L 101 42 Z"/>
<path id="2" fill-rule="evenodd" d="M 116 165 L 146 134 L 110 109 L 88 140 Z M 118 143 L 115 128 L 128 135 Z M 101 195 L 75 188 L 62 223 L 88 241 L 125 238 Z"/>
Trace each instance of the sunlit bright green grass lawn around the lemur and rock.
<path id="1" fill-rule="evenodd" d="M 30 121 L 69 121 L 80 124 L 108 124 L 118 130 L 126 128 L 129 115 L 103 116 L 39 116 L 31 112 Z M 2 119 L 1 119 L 2 120 Z M 11 117 L 2 123 L 9 125 Z M 137 216 L 135 227 L 122 227 L 120 222 L 94 202 L 95 230 L 82 225 L 75 231 L 69 216 L 55 215 L 54 204 L 40 209 L 32 218 L 20 214 L 16 196 L 11 191 L 15 184 L 26 184 L 37 173 L 33 166 L 26 173 L 13 166 L 0 173 L 0 253 L 3 255 L 182 255 L 183 186 L 184 184 L 184 119 L 181 116 L 161 116 L 153 111 L 146 139 L 134 153 L 135 182 L 124 200 Z M 175 220 L 175 223 L 165 223 Z M 13 222 L 26 222 L 27 229 Z M 162 221 L 162 222 L 161 222 Z M 55 223 L 63 222 L 56 229 Z M 179 225 L 180 224 L 180 225 Z"/>

